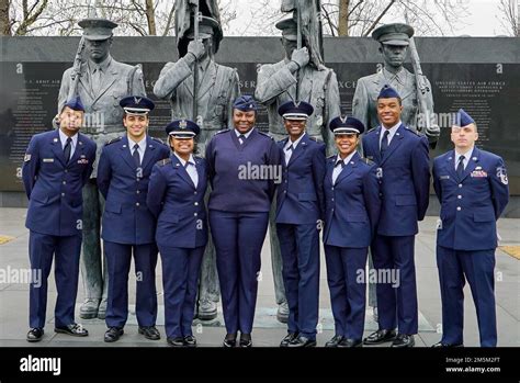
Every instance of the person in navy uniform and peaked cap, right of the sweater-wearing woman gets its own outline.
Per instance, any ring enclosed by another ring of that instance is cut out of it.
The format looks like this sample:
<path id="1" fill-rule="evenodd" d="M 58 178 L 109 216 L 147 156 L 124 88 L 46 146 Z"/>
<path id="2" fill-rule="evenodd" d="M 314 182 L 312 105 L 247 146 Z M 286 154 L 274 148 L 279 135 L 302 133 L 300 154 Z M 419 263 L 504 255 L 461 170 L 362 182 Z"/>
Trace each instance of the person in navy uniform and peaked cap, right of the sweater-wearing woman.
<path id="1" fill-rule="evenodd" d="M 316 346 L 319 303 L 319 230 L 325 213 L 325 144 L 305 132 L 314 108 L 280 105 L 289 137 L 280 140 L 283 179 L 276 195 L 276 233 L 289 303 L 287 335 L 280 347 Z"/>

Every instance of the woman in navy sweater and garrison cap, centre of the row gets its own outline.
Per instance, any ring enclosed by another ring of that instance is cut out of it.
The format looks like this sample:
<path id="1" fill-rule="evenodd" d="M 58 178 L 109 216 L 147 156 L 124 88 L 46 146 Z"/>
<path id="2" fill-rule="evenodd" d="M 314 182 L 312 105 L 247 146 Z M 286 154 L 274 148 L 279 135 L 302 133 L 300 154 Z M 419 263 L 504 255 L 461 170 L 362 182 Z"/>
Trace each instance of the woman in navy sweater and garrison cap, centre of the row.
<path id="1" fill-rule="evenodd" d="M 227 335 L 225 347 L 251 347 L 260 251 L 269 210 L 281 181 L 280 148 L 255 128 L 257 103 L 241 95 L 233 105 L 233 129 L 217 133 L 206 149 L 210 227 L 215 241 Z"/>

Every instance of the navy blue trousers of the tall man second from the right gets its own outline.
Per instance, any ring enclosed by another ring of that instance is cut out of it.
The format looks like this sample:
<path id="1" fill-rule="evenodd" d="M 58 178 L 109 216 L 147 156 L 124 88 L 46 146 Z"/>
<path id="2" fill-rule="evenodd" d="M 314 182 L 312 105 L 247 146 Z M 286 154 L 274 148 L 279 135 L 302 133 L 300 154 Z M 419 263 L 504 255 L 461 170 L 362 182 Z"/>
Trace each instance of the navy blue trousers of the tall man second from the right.
<path id="1" fill-rule="evenodd" d="M 415 236 L 376 235 L 373 241 L 380 329 L 397 326 L 399 334 L 414 335 L 418 331 L 414 244 Z"/>

